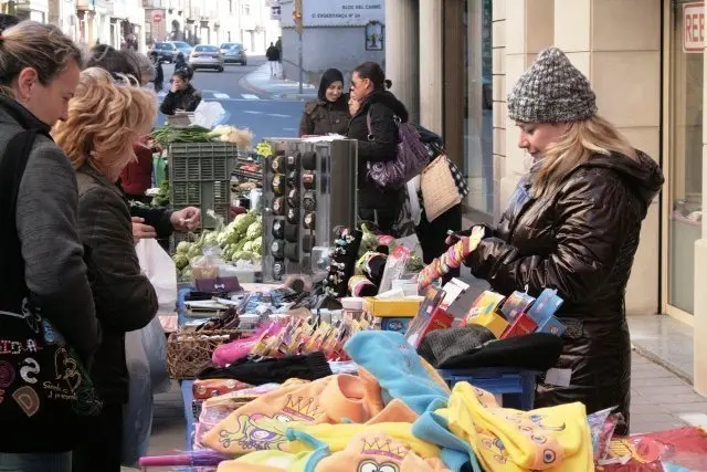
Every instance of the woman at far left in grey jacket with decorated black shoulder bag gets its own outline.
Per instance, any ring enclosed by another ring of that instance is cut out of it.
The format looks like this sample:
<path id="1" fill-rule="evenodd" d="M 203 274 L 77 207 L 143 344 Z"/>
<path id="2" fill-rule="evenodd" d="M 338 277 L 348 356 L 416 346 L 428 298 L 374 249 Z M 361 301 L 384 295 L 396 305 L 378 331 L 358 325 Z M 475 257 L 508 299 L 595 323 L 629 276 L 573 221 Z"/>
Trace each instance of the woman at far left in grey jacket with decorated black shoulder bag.
<path id="1" fill-rule="evenodd" d="M 50 136 L 81 69 L 56 27 L 24 21 L 0 34 L 0 332 L 31 347 L 0 354 L 2 471 L 70 472 L 71 451 L 92 434 L 78 418 L 99 409 L 82 368 L 101 335 L 76 177 Z"/>

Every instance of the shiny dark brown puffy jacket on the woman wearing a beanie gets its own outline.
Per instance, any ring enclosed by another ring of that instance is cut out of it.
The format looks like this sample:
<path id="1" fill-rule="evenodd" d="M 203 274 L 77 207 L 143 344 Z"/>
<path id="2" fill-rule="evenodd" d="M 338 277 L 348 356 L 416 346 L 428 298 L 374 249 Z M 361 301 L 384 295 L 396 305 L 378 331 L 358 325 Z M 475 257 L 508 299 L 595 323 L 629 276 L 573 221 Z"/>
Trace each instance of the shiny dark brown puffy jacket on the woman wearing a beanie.
<path id="1" fill-rule="evenodd" d="M 570 387 L 538 386 L 536 407 L 581 401 L 588 412 L 618 406 L 629 430 L 631 343 L 624 294 L 641 224 L 663 185 L 657 164 L 639 153 L 597 155 L 539 199 L 524 178 L 489 238 L 466 263 L 503 293 L 557 289 L 567 326 L 557 367 Z"/>

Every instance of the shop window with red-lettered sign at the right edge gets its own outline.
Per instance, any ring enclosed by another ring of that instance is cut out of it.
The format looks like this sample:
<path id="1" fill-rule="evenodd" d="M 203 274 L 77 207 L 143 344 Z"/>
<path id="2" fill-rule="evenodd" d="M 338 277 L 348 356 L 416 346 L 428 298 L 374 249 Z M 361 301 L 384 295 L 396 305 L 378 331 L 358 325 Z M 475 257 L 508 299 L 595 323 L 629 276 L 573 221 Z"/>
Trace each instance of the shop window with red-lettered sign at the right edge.
<path id="1" fill-rule="evenodd" d="M 667 302 L 692 314 L 701 237 L 704 3 L 673 0 L 672 19 Z"/>

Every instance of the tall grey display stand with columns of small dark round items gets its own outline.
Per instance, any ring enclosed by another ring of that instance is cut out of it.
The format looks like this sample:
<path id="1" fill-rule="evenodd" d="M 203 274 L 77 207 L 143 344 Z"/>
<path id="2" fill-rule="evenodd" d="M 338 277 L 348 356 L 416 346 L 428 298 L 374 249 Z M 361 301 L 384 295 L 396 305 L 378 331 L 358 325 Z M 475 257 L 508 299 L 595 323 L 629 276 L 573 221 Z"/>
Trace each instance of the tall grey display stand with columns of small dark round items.
<path id="1" fill-rule="evenodd" d="M 355 140 L 268 140 L 263 162 L 263 276 L 325 271 L 331 229 L 356 221 Z"/>

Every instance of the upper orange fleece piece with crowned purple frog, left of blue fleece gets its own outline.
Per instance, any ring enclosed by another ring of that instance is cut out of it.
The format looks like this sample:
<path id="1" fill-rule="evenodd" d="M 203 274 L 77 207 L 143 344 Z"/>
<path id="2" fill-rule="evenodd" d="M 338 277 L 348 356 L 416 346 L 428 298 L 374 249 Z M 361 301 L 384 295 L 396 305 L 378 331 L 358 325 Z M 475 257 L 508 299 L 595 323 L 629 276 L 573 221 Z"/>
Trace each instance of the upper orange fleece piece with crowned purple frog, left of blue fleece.
<path id="1" fill-rule="evenodd" d="M 329 376 L 305 385 L 284 385 L 258 397 L 207 432 L 202 442 L 226 454 L 284 450 L 285 432 L 295 422 L 362 423 L 372 416 L 358 377 Z"/>

